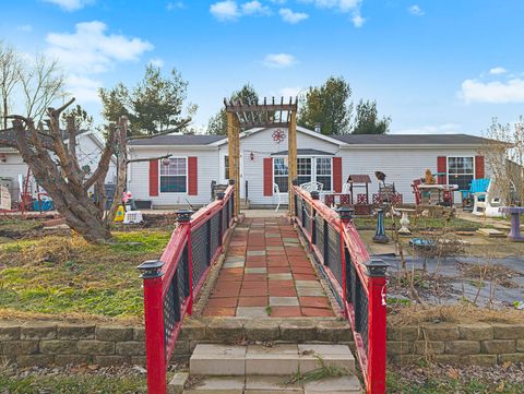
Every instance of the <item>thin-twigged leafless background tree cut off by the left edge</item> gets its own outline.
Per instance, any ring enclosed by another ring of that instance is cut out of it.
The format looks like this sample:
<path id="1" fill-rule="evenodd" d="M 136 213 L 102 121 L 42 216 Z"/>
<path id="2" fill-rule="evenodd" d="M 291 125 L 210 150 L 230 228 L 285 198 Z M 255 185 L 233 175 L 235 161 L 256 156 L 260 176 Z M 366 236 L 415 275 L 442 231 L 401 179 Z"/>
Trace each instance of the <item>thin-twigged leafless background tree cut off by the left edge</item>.
<path id="1" fill-rule="evenodd" d="M 0 114 L 9 115 L 10 98 L 20 81 L 20 56 L 16 50 L 0 41 Z M 8 128 L 8 119 L 3 119 L 3 128 Z"/>

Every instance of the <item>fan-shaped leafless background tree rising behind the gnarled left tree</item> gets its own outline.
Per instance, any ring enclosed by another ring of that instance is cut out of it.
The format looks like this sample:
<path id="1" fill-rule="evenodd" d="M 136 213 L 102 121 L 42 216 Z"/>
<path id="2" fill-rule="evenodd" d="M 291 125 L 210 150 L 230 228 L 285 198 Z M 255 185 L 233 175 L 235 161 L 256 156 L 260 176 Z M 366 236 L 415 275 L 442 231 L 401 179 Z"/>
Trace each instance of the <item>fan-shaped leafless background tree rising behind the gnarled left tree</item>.
<path id="1" fill-rule="evenodd" d="M 25 116 L 39 122 L 49 106 L 64 97 L 64 77 L 57 60 L 36 55 L 34 62 L 19 69 Z"/>

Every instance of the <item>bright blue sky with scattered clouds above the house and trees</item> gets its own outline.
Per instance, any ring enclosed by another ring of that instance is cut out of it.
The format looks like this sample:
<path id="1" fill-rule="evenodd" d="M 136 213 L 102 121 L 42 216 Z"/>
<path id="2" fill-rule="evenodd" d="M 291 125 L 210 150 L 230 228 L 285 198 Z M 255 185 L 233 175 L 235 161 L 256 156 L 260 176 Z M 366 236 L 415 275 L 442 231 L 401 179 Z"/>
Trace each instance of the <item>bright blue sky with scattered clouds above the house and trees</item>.
<path id="1" fill-rule="evenodd" d="M 523 14 L 520 0 L 17 0 L 0 37 L 56 57 L 94 115 L 96 87 L 152 61 L 189 81 L 201 126 L 245 82 L 288 96 L 343 75 L 394 133 L 481 134 L 524 114 Z"/>

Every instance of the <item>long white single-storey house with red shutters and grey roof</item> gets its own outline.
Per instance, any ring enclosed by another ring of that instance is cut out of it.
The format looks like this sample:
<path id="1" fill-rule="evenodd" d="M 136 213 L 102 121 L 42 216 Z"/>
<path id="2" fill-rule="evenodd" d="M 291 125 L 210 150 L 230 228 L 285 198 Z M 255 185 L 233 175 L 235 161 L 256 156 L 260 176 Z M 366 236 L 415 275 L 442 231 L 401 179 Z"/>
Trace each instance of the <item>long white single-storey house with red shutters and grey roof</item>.
<path id="1" fill-rule="evenodd" d="M 297 128 L 298 181 L 318 181 L 324 191 L 341 192 L 350 175 L 369 175 L 370 198 L 379 189 L 374 171 L 386 175 L 405 203 L 414 203 L 414 179 L 426 169 L 441 174 L 441 181 L 468 189 L 472 179 L 489 169 L 478 154 L 485 140 L 467 134 L 323 135 Z M 203 205 L 211 200 L 211 184 L 228 179 L 228 145 L 223 135 L 159 135 L 132 141 L 130 158 L 171 155 L 169 160 L 130 164 L 128 189 L 135 200 L 153 207 Z M 240 195 L 251 206 L 287 203 L 287 129 L 251 129 L 240 134 Z M 458 198 L 458 195 L 456 195 Z M 460 201 L 460 200 L 458 200 Z"/>

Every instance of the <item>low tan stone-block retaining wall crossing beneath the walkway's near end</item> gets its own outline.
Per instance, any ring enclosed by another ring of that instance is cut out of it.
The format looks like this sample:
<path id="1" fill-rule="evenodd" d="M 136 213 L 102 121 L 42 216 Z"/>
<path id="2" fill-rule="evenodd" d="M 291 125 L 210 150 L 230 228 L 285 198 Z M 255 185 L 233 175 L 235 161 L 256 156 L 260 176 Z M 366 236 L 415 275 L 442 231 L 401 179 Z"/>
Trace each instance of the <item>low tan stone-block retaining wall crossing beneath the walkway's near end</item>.
<path id="1" fill-rule="evenodd" d="M 188 319 L 174 361 L 188 361 L 198 343 L 338 343 L 354 350 L 347 322 L 335 319 Z M 425 324 L 388 329 L 393 363 L 524 362 L 524 324 Z M 107 324 L 0 322 L 0 361 L 20 367 L 145 363 L 144 329 Z"/>

